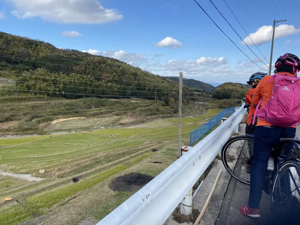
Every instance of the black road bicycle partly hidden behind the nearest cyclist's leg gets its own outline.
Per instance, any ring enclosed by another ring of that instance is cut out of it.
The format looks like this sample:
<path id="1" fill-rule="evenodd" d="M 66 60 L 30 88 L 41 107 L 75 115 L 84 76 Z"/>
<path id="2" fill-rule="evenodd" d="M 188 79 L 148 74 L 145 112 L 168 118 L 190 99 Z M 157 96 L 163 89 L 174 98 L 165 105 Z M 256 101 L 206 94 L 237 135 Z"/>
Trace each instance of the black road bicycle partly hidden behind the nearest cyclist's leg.
<path id="1" fill-rule="evenodd" d="M 295 215 L 300 212 L 300 140 L 282 137 L 280 141 L 283 147 L 280 150 L 274 146 L 264 176 L 263 190 L 271 195 L 272 215 L 281 215 L 282 210 L 285 214 Z M 291 142 L 294 142 L 293 148 L 288 159 L 284 160 L 286 146 Z M 245 184 L 250 184 L 252 152 L 253 137 L 247 135 L 230 138 L 221 150 L 226 170 Z"/>

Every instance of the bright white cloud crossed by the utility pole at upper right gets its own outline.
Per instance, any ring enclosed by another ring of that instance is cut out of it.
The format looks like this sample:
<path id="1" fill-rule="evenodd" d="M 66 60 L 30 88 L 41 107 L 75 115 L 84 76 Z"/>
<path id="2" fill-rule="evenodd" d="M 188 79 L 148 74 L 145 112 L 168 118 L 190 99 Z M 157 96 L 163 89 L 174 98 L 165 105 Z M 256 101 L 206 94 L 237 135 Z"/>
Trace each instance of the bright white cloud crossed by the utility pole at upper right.
<path id="1" fill-rule="evenodd" d="M 244 42 L 248 45 L 253 45 L 253 42 L 251 41 L 252 39 L 254 43 L 258 45 L 267 43 L 271 38 L 272 29 L 273 27 L 271 25 L 261 26 L 256 30 L 256 32 L 250 33 L 249 36 L 244 38 Z M 274 38 L 285 37 L 297 32 L 300 32 L 300 29 L 295 28 L 293 25 L 280 24 L 279 26 L 275 27 Z"/>

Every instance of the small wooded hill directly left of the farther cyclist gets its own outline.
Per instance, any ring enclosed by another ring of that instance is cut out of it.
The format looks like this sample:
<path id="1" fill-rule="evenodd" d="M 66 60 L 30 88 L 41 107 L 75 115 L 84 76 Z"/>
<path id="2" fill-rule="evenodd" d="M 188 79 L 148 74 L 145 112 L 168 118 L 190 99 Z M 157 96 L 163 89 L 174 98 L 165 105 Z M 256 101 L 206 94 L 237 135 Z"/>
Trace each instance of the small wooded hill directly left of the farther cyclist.
<path id="1" fill-rule="evenodd" d="M 212 97 L 218 99 L 243 98 L 249 91 L 250 85 L 242 83 L 226 82 L 215 87 Z"/>

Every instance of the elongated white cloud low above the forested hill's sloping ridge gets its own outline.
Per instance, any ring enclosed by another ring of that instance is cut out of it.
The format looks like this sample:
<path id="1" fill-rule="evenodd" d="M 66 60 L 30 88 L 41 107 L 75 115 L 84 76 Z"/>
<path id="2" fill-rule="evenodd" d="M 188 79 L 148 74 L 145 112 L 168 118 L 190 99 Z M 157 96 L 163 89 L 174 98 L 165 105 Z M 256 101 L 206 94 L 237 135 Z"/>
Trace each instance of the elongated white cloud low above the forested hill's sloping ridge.
<path id="1" fill-rule="evenodd" d="M 103 55 L 111 58 L 118 59 L 120 61 L 127 62 L 128 64 L 134 64 L 137 65 L 136 62 L 142 62 L 147 60 L 147 57 L 141 55 L 141 54 L 135 54 L 135 53 L 130 53 L 126 52 L 123 50 L 119 51 L 112 51 L 112 50 L 107 50 L 107 51 L 99 51 L 95 49 L 89 49 L 89 50 L 83 50 L 82 52 L 88 52 L 90 54 L 95 54 L 95 55 Z"/>

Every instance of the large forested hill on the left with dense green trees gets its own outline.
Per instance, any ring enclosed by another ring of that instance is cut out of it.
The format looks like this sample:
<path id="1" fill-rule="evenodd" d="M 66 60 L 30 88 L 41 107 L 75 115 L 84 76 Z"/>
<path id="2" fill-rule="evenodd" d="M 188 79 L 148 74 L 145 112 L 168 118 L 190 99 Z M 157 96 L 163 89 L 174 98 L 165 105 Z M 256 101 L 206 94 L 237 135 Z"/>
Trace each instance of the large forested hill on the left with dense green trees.
<path id="1" fill-rule="evenodd" d="M 50 43 L 0 32 L 0 76 L 16 80 L 15 92 L 78 98 L 137 96 L 148 99 L 177 97 L 178 84 L 125 62 L 60 49 Z M 2 86 L 3 88 L 3 86 Z M 7 88 L 7 86 L 6 86 Z M 24 91 L 24 90 L 30 90 Z M 193 95 L 183 88 L 183 97 Z"/>

